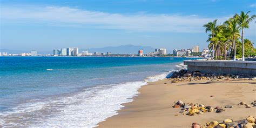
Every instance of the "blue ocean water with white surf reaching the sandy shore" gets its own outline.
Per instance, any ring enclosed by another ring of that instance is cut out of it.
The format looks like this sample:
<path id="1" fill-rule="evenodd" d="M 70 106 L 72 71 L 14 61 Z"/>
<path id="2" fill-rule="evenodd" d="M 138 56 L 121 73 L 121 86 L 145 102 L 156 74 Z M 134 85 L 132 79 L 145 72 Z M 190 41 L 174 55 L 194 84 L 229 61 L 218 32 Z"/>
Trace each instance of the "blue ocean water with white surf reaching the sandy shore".
<path id="1" fill-rule="evenodd" d="M 95 127 L 187 59 L 0 57 L 0 127 Z"/>

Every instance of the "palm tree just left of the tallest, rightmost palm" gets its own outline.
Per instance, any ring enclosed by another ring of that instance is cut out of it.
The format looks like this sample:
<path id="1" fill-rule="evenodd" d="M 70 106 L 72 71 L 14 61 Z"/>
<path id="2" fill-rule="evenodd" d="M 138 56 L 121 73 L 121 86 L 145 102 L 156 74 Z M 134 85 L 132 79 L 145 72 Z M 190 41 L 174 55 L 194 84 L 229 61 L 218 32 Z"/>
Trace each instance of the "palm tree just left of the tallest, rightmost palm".
<path id="1" fill-rule="evenodd" d="M 224 28 L 225 30 L 230 33 L 232 39 L 233 39 L 233 49 L 234 49 L 234 60 L 236 59 L 237 55 L 237 50 L 236 50 L 236 45 L 235 45 L 235 39 L 240 37 L 239 35 L 239 26 L 238 26 L 238 21 L 236 18 L 230 18 L 228 21 L 224 23 Z"/>

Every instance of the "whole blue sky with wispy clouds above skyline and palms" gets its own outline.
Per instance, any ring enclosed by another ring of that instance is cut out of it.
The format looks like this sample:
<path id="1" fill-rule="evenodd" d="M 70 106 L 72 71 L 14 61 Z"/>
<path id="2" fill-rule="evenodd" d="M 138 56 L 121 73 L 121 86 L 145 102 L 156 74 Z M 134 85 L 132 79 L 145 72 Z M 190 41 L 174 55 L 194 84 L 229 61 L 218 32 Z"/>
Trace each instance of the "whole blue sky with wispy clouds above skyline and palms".
<path id="1" fill-rule="evenodd" d="M 252 1 L 1 1 L 1 49 L 50 51 L 126 44 L 173 49 L 207 47 L 203 24 L 223 23 Z M 245 37 L 256 41 L 255 22 Z M 255 46 L 255 45 L 254 45 Z"/>

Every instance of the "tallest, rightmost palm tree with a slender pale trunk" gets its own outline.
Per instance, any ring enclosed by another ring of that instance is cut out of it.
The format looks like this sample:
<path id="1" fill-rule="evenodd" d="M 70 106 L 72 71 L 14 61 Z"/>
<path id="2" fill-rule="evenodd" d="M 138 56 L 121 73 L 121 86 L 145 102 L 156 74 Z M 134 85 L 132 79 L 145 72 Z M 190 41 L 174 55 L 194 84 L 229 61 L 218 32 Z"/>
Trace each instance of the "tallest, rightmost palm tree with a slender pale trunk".
<path id="1" fill-rule="evenodd" d="M 248 11 L 246 14 L 244 11 L 241 11 L 241 14 L 235 14 L 234 18 L 238 20 L 239 28 L 242 30 L 241 32 L 241 41 L 242 41 L 242 60 L 245 60 L 245 50 L 244 50 L 244 28 L 249 28 L 249 24 L 256 15 L 252 15 L 251 17 L 248 15 L 251 11 Z"/>

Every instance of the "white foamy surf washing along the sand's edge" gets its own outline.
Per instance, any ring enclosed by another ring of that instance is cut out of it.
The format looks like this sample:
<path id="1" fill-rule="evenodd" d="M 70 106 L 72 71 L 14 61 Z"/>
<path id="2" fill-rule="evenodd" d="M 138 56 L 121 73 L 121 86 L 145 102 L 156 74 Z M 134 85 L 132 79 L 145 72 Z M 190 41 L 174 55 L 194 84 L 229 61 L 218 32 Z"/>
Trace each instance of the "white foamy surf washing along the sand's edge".
<path id="1" fill-rule="evenodd" d="M 184 65 L 176 67 L 183 69 Z M 0 125 L 23 127 L 96 127 L 114 116 L 123 103 L 132 102 L 138 89 L 147 82 L 164 79 L 169 72 L 139 82 L 88 87 L 65 98 L 46 99 L 19 105 L 15 111 L 0 114 Z M 12 118 L 21 118 L 10 122 Z"/>

